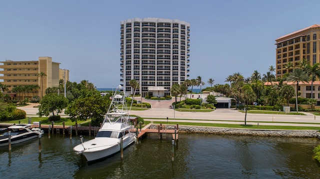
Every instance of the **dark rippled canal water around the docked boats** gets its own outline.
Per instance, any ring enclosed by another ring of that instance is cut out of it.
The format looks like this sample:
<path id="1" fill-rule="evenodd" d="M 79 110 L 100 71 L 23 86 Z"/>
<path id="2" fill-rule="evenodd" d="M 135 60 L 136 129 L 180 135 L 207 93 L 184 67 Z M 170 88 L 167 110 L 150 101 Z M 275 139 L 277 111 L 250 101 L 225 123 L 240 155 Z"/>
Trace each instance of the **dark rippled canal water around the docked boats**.
<path id="1" fill-rule="evenodd" d="M 312 159 L 316 139 L 179 134 L 159 140 L 149 134 L 120 154 L 88 165 L 72 148 L 78 137 L 45 134 L 0 148 L 1 179 L 318 179 Z M 84 140 L 88 140 L 84 136 Z M 172 159 L 172 148 L 174 149 Z M 173 160 L 173 161 L 172 161 Z"/>

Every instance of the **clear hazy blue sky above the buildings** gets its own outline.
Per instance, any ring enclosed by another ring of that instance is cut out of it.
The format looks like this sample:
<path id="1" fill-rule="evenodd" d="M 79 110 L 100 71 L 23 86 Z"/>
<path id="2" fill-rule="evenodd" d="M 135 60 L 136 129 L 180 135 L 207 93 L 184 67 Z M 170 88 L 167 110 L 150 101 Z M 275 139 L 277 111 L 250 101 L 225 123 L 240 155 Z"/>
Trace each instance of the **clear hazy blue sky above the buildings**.
<path id="1" fill-rule="evenodd" d="M 120 21 L 190 23 L 189 79 L 224 84 L 275 66 L 275 39 L 319 24 L 318 0 L 0 0 L 0 61 L 50 56 L 69 80 L 120 84 Z M 205 85 L 207 86 L 207 84 Z"/>

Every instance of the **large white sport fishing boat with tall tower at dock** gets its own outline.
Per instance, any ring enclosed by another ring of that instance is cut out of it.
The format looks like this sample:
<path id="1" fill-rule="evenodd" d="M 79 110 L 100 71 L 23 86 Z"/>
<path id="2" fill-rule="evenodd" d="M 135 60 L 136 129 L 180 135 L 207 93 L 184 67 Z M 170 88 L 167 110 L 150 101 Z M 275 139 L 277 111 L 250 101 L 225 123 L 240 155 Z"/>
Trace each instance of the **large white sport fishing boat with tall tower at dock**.
<path id="1" fill-rule="evenodd" d="M 118 86 L 118 89 L 121 85 Z M 94 139 L 83 142 L 75 146 L 73 151 L 82 154 L 88 162 L 104 159 L 114 155 L 128 147 L 135 141 L 135 134 L 131 133 L 129 113 L 127 110 L 125 96 L 117 94 L 115 91 L 109 109 L 105 115 L 103 123 Z"/>

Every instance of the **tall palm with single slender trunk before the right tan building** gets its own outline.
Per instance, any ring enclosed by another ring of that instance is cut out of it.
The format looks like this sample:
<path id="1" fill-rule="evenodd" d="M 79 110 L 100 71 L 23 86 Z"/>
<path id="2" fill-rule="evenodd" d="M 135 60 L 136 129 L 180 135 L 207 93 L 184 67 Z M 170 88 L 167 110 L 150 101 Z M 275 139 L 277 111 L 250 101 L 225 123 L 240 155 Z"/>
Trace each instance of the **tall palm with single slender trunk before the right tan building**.
<path id="1" fill-rule="evenodd" d="M 309 77 L 307 76 L 307 74 L 300 68 L 294 68 L 292 70 L 292 73 L 289 74 L 288 81 L 290 82 L 295 82 L 295 108 L 296 108 L 296 112 L 298 112 L 298 85 L 299 82 L 308 82 L 309 81 Z"/>

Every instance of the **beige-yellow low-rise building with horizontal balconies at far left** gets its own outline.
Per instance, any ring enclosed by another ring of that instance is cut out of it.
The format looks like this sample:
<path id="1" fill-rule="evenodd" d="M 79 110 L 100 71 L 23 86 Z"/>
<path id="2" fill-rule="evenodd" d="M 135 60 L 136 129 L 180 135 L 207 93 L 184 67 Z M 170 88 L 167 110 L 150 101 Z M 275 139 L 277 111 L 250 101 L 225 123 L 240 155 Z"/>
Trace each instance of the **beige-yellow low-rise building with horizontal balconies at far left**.
<path id="1" fill-rule="evenodd" d="M 0 63 L 0 83 L 6 85 L 7 90 L 3 92 L 9 94 L 11 99 L 20 100 L 21 96 L 29 99 L 33 96 L 41 98 L 45 95 L 46 88 L 58 87 L 60 79 L 69 79 L 68 70 L 59 69 L 60 63 L 53 62 L 51 57 L 38 57 L 38 60 L 31 61 L 5 60 Z M 14 92 L 15 87 L 26 85 L 37 85 L 38 88 L 22 94 Z"/>

